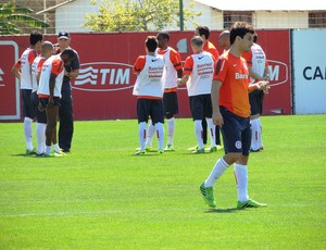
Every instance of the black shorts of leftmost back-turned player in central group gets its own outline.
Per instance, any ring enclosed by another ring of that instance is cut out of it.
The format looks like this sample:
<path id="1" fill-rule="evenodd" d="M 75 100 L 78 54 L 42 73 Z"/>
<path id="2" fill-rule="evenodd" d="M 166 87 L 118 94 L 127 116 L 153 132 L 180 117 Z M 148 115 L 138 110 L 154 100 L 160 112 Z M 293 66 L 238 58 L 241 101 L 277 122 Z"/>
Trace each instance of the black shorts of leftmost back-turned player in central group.
<path id="1" fill-rule="evenodd" d="M 164 123 L 163 100 L 139 98 L 137 100 L 138 123 L 148 123 L 151 117 L 152 124 Z"/>

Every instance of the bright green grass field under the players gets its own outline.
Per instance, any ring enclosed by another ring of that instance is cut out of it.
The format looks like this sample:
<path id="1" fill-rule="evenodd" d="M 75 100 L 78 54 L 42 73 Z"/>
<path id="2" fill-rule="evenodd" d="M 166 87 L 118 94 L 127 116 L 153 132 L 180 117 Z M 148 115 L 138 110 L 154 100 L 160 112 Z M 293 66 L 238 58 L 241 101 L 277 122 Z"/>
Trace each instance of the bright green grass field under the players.
<path id="1" fill-rule="evenodd" d="M 0 124 L 0 249 L 326 249 L 326 115 L 262 117 L 237 210 L 233 167 L 209 209 L 200 184 L 223 152 L 191 155 L 191 120 L 175 152 L 133 155 L 136 121 L 76 122 L 72 153 L 25 157 L 22 123 Z M 156 141 L 155 141 L 156 143 Z"/>

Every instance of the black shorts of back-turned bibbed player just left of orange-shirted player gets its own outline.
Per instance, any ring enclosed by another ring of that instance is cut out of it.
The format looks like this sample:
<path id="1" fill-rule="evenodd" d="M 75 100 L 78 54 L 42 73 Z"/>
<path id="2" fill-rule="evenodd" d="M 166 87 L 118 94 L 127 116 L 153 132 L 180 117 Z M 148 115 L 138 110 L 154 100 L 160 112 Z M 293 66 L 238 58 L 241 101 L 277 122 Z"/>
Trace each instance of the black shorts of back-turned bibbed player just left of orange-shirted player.
<path id="1" fill-rule="evenodd" d="M 193 121 L 212 117 L 213 109 L 210 93 L 189 97 L 189 103 Z"/>

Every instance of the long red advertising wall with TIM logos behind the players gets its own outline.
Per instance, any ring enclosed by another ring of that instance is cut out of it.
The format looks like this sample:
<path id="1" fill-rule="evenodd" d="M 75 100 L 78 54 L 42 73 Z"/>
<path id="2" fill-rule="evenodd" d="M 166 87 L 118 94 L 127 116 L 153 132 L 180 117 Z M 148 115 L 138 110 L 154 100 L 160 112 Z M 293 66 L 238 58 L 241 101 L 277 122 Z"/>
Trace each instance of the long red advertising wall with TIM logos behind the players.
<path id="1" fill-rule="evenodd" d="M 259 43 L 268 58 L 272 76 L 264 114 L 291 114 L 289 30 L 261 30 L 258 34 Z M 73 82 L 75 120 L 136 117 L 136 98 L 131 96 L 136 76 L 131 67 L 137 57 L 145 54 L 148 35 L 155 34 L 71 34 L 71 46 L 78 51 L 82 63 L 79 76 Z M 216 48 L 218 35 L 218 32 L 212 32 L 210 37 Z M 171 33 L 170 45 L 180 52 L 183 60 L 191 52 L 192 36 L 193 32 Z M 46 36 L 45 40 L 57 42 L 57 37 Z M 22 116 L 15 95 L 17 86 L 10 70 L 17 54 L 21 55 L 27 47 L 28 36 L 0 37 L 0 120 L 18 120 Z M 190 116 L 187 90 L 179 89 L 178 97 L 179 116 Z"/>

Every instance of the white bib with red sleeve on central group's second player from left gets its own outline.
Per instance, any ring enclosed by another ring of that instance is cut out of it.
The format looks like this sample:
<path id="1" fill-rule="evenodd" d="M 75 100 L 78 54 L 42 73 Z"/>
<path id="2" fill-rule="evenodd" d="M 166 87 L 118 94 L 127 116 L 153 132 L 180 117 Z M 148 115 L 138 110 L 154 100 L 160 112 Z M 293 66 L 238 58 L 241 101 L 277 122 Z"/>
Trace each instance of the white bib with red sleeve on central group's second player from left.
<path id="1" fill-rule="evenodd" d="M 163 55 L 165 72 L 163 75 L 163 87 L 164 89 L 177 89 L 177 71 L 183 70 L 180 54 L 168 47 L 166 50 L 158 49 L 158 54 Z"/>

